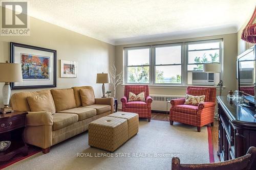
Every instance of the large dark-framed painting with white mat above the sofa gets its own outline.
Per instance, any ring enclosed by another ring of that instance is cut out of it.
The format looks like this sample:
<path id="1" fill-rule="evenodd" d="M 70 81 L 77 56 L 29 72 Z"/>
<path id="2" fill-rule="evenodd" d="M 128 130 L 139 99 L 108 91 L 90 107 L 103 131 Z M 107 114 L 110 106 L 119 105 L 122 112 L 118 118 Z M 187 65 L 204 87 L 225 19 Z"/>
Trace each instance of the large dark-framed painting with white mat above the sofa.
<path id="1" fill-rule="evenodd" d="M 56 87 L 56 51 L 31 45 L 10 43 L 11 63 L 22 64 L 23 82 L 11 89 Z"/>

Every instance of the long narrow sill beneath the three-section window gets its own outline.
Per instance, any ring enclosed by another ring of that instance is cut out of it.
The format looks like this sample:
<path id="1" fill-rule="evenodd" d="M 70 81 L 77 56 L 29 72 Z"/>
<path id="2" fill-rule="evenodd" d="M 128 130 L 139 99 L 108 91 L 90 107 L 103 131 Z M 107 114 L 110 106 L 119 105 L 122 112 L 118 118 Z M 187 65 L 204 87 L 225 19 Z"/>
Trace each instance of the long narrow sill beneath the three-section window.
<path id="1" fill-rule="evenodd" d="M 122 84 L 124 87 L 125 85 L 145 85 L 145 84 Z M 150 88 L 170 88 L 170 89 L 186 89 L 188 86 L 195 86 L 195 87 L 215 87 L 220 89 L 219 86 L 207 86 L 207 85 L 160 85 L 160 84 L 146 84 Z M 225 89 L 225 86 L 222 86 L 222 89 Z"/>

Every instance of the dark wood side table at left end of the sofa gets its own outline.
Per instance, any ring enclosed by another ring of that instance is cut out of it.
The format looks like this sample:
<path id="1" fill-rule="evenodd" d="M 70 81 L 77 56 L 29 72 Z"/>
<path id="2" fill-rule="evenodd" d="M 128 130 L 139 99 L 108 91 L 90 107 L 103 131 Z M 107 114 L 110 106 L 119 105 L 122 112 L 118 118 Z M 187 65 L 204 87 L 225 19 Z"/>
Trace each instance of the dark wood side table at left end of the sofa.
<path id="1" fill-rule="evenodd" d="M 16 154 L 28 155 L 28 146 L 24 142 L 23 131 L 26 127 L 27 112 L 14 111 L 0 114 L 0 141 L 11 141 L 6 151 L 0 152 L 0 161 L 8 161 Z"/>

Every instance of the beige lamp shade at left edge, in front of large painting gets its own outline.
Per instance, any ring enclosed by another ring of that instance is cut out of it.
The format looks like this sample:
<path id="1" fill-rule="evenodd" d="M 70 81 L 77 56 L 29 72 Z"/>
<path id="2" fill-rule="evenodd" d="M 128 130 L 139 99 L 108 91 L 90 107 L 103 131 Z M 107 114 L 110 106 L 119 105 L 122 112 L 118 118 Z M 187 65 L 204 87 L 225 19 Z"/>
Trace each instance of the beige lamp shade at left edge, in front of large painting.
<path id="1" fill-rule="evenodd" d="M 17 63 L 0 63 L 0 82 L 22 82 L 22 65 Z"/>

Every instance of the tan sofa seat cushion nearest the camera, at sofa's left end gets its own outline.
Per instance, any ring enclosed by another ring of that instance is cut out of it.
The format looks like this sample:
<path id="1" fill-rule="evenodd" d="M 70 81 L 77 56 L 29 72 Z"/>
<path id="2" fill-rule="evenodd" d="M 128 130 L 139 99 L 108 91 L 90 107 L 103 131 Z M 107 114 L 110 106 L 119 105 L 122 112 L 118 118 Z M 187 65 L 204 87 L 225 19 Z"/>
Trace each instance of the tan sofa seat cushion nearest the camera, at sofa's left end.
<path id="1" fill-rule="evenodd" d="M 58 130 L 72 125 L 78 121 L 78 115 L 72 113 L 56 113 L 53 117 L 53 130 Z"/>

